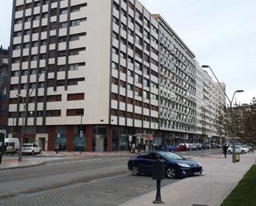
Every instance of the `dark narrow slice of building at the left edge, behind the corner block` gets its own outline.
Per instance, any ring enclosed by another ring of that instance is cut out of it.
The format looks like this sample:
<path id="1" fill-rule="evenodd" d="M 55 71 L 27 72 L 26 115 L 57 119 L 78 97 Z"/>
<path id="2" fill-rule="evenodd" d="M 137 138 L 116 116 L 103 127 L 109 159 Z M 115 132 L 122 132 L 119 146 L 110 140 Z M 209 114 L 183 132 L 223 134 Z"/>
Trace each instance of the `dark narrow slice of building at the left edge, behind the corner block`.
<path id="1" fill-rule="evenodd" d="M 0 47 L 0 132 L 6 135 L 7 131 L 7 74 L 8 74 L 8 49 Z"/>

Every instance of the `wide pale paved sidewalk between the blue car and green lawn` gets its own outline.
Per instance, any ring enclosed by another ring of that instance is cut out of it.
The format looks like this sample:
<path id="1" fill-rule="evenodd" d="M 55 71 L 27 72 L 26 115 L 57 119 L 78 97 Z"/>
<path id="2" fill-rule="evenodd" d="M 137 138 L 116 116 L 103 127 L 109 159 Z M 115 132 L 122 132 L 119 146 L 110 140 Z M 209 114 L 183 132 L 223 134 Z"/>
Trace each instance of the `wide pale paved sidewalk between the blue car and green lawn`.
<path id="1" fill-rule="evenodd" d="M 204 168 L 204 175 L 185 178 L 162 188 L 163 206 L 219 206 L 239 183 L 251 165 L 255 164 L 256 153 L 240 156 L 238 163 L 232 163 L 232 156 L 205 156 L 194 159 Z M 164 180 L 163 180 L 164 181 Z M 122 206 L 150 206 L 156 197 L 156 190 L 128 201 Z"/>

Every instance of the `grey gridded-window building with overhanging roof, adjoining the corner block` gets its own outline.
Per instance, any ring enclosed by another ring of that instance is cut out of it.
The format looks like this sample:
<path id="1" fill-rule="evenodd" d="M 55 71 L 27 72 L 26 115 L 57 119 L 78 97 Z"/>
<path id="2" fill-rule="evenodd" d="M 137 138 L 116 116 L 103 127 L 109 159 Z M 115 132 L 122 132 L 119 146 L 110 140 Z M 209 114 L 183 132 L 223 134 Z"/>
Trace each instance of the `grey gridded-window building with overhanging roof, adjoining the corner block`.
<path id="1" fill-rule="evenodd" d="M 160 15 L 160 130 L 167 143 L 193 141 L 196 134 L 195 55 Z M 176 142 L 175 142 L 176 140 Z"/>

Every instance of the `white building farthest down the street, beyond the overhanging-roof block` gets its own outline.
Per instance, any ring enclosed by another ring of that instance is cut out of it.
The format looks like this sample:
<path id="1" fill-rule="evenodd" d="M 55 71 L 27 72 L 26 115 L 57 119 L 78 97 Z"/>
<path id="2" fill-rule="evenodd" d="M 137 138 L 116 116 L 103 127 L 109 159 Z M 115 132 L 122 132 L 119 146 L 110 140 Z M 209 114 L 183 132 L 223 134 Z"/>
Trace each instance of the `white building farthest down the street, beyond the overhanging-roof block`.
<path id="1" fill-rule="evenodd" d="M 220 84 L 225 89 L 225 84 Z M 225 106 L 225 93 L 220 84 L 214 82 L 196 62 L 196 133 L 200 142 L 209 141 L 210 137 L 215 143 L 220 143 L 224 137 L 217 121 L 221 107 Z"/>

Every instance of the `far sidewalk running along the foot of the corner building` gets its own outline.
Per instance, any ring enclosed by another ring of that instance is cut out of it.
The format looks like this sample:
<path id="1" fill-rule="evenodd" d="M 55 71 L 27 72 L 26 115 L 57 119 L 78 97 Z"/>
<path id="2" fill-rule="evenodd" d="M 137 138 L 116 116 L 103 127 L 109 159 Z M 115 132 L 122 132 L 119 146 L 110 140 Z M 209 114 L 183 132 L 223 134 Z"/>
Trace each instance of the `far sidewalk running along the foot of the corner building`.
<path id="1" fill-rule="evenodd" d="M 3 156 L 0 170 L 16 169 L 34 165 L 42 165 L 49 160 L 60 160 L 70 158 L 91 158 L 91 157 L 111 157 L 111 156 L 133 156 L 133 153 L 123 152 L 80 152 L 78 151 L 60 151 L 56 154 L 55 151 L 42 151 L 36 156 L 22 156 L 22 161 L 18 161 L 18 156 Z M 30 158 L 29 158 L 30 157 Z"/>

